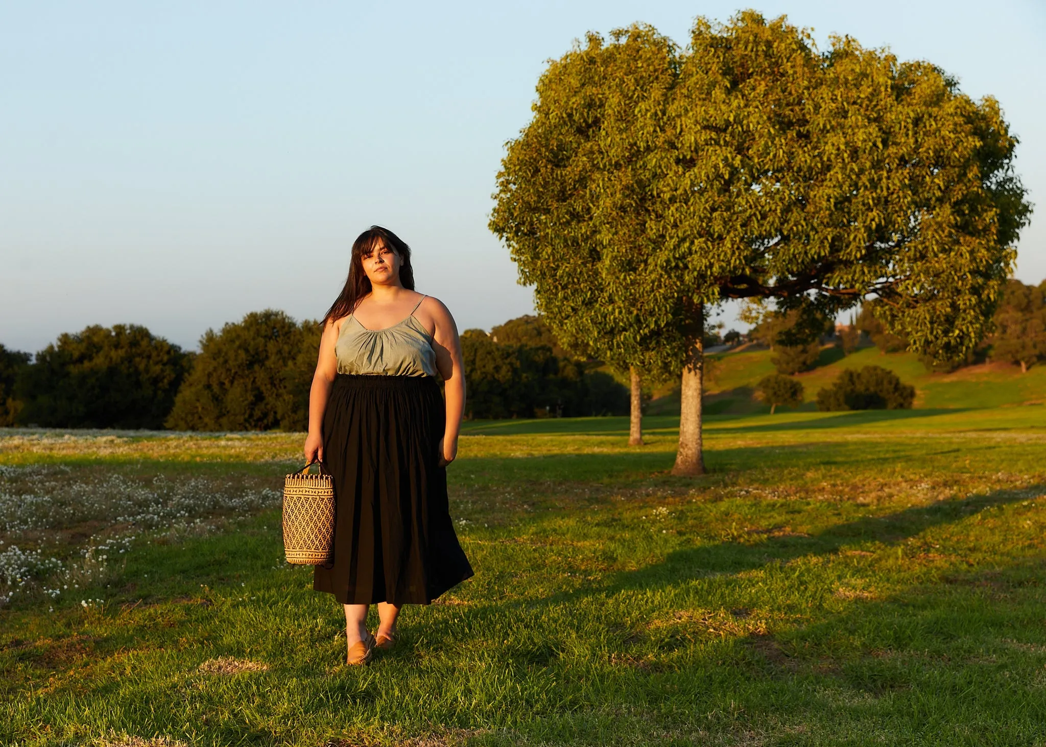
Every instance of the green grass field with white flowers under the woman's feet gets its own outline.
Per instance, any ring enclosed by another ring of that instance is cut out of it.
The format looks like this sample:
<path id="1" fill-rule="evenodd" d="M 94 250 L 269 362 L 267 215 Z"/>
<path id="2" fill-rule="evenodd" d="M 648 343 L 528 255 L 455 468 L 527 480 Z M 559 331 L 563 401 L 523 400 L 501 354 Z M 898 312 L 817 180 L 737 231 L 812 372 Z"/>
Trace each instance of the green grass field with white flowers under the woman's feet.
<path id="1" fill-rule="evenodd" d="M 676 424 L 468 424 L 476 576 L 366 669 L 301 436 L 0 431 L 0 744 L 1046 745 L 1046 408 Z"/>

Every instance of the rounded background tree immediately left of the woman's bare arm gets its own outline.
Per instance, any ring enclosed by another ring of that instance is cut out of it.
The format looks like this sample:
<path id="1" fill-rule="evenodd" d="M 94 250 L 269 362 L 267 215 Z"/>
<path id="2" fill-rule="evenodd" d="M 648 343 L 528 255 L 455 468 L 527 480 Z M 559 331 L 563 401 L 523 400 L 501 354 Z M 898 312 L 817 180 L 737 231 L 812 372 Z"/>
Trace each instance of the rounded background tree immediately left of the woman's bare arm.
<path id="1" fill-rule="evenodd" d="M 271 309 L 252 312 L 220 332 L 208 330 L 167 427 L 305 430 L 319 343 L 318 322 L 299 324 Z"/>

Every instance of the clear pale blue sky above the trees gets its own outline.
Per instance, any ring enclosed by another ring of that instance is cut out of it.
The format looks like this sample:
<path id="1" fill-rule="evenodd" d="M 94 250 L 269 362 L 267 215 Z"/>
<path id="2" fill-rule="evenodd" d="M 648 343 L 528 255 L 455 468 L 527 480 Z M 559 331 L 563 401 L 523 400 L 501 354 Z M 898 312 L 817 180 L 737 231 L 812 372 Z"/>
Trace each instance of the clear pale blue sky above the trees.
<path id="1" fill-rule="evenodd" d="M 545 61 L 634 21 L 685 44 L 695 16 L 746 6 L 2 2 L 0 342 L 135 322 L 195 347 L 253 310 L 318 317 L 371 223 L 411 244 L 461 329 L 528 313 L 486 222 Z M 1046 3 L 754 7 L 995 95 L 1040 203 L 1017 275 L 1046 277 Z"/>

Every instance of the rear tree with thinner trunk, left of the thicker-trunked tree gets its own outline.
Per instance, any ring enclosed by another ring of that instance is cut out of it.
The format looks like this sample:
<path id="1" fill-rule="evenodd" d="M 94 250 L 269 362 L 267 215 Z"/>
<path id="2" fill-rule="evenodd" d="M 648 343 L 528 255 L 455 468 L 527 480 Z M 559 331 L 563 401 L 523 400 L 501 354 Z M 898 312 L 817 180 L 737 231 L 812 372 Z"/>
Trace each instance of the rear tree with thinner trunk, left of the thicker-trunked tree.
<path id="1" fill-rule="evenodd" d="M 649 26 L 589 35 L 549 65 L 533 119 L 509 143 L 491 228 L 569 350 L 629 371 L 630 443 L 641 443 L 640 374 L 678 368 L 676 327 L 651 323 L 637 276 L 657 236 L 652 171 L 678 77 L 677 50 Z M 651 276 L 656 280 L 656 272 Z"/>

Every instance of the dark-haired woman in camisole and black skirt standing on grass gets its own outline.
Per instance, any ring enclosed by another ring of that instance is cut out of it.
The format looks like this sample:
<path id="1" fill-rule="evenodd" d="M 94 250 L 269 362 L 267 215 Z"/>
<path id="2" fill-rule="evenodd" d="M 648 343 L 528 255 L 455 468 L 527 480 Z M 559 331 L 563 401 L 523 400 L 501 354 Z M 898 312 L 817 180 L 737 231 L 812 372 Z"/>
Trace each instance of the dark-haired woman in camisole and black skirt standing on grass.
<path id="1" fill-rule="evenodd" d="M 439 395 L 436 374 L 446 392 Z M 403 605 L 427 605 L 472 575 L 447 504 L 464 377 L 447 307 L 414 291 L 410 247 L 371 226 L 323 319 L 305 459 L 334 477 L 334 563 L 313 588 L 345 606 L 349 664 L 395 642 Z M 378 605 L 378 635 L 366 629 Z"/>

